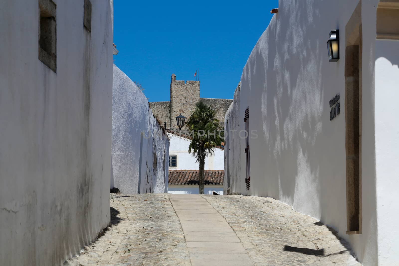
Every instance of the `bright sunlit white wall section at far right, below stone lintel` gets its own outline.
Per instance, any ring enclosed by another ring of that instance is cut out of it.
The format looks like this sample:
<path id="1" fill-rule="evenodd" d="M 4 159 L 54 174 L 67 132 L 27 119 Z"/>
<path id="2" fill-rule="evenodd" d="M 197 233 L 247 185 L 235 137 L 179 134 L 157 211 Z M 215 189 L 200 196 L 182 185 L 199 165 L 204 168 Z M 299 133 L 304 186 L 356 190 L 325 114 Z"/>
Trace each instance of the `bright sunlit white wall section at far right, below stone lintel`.
<path id="1" fill-rule="evenodd" d="M 379 264 L 399 265 L 399 40 L 375 41 L 375 165 Z"/>

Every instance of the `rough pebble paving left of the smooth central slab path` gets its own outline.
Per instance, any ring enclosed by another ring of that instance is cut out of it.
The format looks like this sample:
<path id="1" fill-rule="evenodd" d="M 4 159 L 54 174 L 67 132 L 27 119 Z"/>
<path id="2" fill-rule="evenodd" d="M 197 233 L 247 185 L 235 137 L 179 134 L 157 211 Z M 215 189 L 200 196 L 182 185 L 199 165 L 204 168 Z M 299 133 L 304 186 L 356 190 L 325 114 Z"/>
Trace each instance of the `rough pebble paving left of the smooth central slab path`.
<path id="1" fill-rule="evenodd" d="M 191 265 L 170 194 L 111 194 L 111 225 L 68 266 Z"/>

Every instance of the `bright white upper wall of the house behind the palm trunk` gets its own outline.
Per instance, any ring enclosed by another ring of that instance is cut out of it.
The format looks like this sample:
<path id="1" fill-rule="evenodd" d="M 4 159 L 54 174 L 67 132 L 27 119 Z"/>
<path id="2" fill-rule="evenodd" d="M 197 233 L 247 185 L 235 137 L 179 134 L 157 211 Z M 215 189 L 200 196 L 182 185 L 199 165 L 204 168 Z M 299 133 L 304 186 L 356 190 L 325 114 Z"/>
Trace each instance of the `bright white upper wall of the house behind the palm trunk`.
<path id="1" fill-rule="evenodd" d="M 177 155 L 177 167 L 169 167 L 170 170 L 198 170 L 199 163 L 196 158 L 188 153 L 191 140 L 182 136 L 170 134 L 170 155 Z M 223 149 L 214 148 L 214 153 L 205 158 L 205 170 L 223 170 Z"/>

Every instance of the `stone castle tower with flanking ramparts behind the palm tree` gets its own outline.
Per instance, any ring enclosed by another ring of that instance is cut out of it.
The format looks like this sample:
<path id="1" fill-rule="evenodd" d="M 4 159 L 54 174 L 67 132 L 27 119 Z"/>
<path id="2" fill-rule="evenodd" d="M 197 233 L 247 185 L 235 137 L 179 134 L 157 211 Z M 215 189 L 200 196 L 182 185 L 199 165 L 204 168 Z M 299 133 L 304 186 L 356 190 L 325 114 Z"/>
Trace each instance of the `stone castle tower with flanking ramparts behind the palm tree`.
<path id="1" fill-rule="evenodd" d="M 172 74 L 170 81 L 170 101 L 150 102 L 153 114 L 160 120 L 166 122 L 166 126 L 176 128 L 176 119 L 180 113 L 186 116 L 186 121 L 190 118 L 192 110 L 198 100 L 203 100 L 206 104 L 212 105 L 216 111 L 216 118 L 223 124 L 224 117 L 233 100 L 211 99 L 199 97 L 199 81 L 176 80 L 176 75 Z"/>

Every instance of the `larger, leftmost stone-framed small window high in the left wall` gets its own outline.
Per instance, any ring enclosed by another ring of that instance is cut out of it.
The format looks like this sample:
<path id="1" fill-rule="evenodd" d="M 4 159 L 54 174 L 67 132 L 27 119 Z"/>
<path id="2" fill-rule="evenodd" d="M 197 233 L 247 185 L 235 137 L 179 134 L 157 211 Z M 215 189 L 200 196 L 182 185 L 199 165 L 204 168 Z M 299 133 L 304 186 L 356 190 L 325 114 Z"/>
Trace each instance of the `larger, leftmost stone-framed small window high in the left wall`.
<path id="1" fill-rule="evenodd" d="M 51 0 L 39 0 L 39 60 L 56 72 L 57 24 L 56 5 Z"/>

